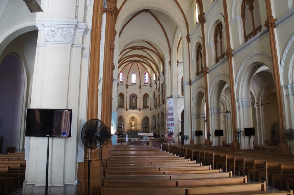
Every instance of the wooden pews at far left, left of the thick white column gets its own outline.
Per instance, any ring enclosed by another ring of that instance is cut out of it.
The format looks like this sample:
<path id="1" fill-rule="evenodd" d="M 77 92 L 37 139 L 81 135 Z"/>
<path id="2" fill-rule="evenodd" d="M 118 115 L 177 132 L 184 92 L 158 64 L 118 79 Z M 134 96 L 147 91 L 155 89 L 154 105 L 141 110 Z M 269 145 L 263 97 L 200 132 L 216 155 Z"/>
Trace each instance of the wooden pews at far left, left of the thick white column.
<path id="1" fill-rule="evenodd" d="M 25 181 L 25 152 L 0 154 L 0 195 L 8 195 Z"/>

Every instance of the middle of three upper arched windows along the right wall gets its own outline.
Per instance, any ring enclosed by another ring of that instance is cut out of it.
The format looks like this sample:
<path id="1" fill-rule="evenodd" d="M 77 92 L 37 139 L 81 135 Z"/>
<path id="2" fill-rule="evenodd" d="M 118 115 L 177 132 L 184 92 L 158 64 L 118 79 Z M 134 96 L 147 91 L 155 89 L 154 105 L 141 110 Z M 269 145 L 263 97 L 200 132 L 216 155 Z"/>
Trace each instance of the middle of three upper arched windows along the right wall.
<path id="1" fill-rule="evenodd" d="M 219 22 L 215 28 L 214 43 L 216 49 L 216 63 L 225 57 L 224 52 L 224 38 L 222 36 L 222 23 Z"/>

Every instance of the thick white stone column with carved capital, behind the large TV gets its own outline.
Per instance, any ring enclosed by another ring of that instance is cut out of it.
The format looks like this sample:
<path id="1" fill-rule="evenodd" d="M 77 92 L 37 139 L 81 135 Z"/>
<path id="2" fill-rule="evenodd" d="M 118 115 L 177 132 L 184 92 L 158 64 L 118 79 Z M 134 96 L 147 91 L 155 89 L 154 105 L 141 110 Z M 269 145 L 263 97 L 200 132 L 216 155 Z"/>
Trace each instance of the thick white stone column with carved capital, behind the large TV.
<path id="1" fill-rule="evenodd" d="M 48 2 L 49 5 L 56 3 Z M 56 6 L 56 5 L 55 5 Z M 75 18 L 75 3 L 60 18 L 41 18 L 33 73 L 31 108 L 72 109 L 72 135 L 68 138 L 31 137 L 26 162 L 24 195 L 45 194 L 49 149 L 48 194 L 75 194 L 78 110 L 81 93 L 83 38 L 87 25 Z M 57 6 L 56 6 L 57 7 Z M 72 9 L 71 9 L 72 8 Z M 57 8 L 57 9 L 60 9 Z M 56 11 L 56 10 L 55 10 Z M 73 15 L 72 14 L 73 11 Z M 58 12 L 59 13 L 59 12 Z M 43 16 L 50 16 L 47 12 Z"/>

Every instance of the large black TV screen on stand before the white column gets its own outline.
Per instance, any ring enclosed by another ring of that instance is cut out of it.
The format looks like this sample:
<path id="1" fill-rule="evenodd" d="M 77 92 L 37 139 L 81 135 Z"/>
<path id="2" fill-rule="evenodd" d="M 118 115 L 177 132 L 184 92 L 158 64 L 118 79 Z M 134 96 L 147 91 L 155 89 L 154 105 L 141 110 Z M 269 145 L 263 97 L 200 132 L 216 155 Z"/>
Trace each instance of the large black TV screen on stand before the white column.
<path id="1" fill-rule="evenodd" d="M 26 110 L 25 136 L 33 137 L 71 137 L 71 109 Z"/>

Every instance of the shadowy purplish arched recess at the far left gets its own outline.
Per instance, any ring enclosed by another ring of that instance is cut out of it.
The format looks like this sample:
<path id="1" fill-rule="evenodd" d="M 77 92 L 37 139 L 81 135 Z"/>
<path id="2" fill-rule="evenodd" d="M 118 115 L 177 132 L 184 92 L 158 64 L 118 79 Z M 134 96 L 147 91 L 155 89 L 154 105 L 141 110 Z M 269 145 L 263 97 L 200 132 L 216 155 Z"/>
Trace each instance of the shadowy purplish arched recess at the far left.
<path id="1" fill-rule="evenodd" d="M 25 103 L 25 73 L 15 55 L 7 55 L 0 65 L 0 136 L 2 148 L 24 148 L 24 122 L 22 115 Z M 0 146 L 1 147 L 1 146 Z"/>

